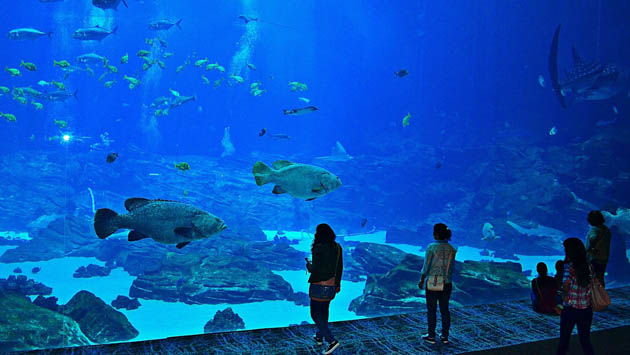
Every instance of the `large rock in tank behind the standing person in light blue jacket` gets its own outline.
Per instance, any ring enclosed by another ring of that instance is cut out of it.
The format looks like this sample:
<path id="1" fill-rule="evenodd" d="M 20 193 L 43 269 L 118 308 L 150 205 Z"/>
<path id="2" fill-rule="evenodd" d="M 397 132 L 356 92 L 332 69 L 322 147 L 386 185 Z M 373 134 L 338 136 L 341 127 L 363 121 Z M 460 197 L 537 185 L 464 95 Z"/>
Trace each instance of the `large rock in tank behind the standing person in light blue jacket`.
<path id="1" fill-rule="evenodd" d="M 424 308 L 424 292 L 418 289 L 424 260 L 407 254 L 385 274 L 368 275 L 363 295 L 352 300 L 349 310 L 361 316 L 415 312 Z M 492 303 L 521 299 L 529 294 L 529 281 L 517 263 L 455 262 L 452 305 Z"/>

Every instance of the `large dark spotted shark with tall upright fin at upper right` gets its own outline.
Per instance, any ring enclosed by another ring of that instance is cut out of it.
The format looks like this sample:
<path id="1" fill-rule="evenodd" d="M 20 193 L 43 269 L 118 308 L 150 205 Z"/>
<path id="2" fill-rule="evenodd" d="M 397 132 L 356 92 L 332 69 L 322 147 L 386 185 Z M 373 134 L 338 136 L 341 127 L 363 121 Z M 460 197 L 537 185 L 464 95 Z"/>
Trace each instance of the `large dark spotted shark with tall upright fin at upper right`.
<path id="1" fill-rule="evenodd" d="M 573 70 L 566 72 L 564 80 L 558 76 L 558 25 L 549 51 L 549 75 L 551 84 L 562 107 L 567 108 L 565 97 L 571 101 L 606 100 L 630 87 L 630 72 L 615 64 L 602 65 L 587 62 L 573 47 Z"/>

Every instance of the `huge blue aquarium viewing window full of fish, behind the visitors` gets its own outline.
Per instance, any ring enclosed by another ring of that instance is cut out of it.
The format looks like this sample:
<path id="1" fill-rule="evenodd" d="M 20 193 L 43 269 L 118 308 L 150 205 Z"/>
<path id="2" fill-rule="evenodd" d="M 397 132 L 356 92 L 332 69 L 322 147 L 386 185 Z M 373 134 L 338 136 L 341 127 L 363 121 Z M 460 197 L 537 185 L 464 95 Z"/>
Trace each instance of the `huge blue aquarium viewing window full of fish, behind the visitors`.
<path id="1" fill-rule="evenodd" d="M 0 350 L 312 324 L 339 262 L 331 321 L 425 310 L 425 257 L 452 306 L 528 298 L 569 237 L 626 283 L 629 10 L 5 2 Z"/>

